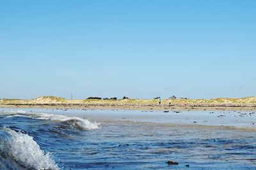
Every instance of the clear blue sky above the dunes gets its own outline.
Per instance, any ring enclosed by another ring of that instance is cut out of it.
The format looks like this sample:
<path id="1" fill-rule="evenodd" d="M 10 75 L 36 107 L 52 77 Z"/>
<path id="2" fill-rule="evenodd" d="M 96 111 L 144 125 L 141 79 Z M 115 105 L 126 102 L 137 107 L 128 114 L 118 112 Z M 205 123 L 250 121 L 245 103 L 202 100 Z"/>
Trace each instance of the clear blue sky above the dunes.
<path id="1" fill-rule="evenodd" d="M 256 1 L 1 1 L 0 98 L 256 96 Z"/>

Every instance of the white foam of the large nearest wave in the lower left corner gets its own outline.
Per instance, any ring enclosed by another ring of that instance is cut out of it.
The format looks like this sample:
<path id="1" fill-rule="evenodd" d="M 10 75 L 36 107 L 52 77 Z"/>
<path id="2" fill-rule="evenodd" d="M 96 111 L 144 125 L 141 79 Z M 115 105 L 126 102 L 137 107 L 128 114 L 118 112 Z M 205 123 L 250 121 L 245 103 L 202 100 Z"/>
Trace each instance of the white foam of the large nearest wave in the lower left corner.
<path id="1" fill-rule="evenodd" d="M 59 169 L 51 154 L 42 151 L 31 136 L 6 127 L 0 129 L 0 153 L 26 169 Z"/>

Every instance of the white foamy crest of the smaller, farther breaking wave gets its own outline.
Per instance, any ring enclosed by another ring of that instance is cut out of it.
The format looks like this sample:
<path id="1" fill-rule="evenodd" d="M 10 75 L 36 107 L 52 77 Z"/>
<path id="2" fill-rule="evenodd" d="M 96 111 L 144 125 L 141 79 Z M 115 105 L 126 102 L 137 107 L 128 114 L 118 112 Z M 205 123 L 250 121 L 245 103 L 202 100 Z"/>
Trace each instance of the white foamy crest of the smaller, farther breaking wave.
<path id="1" fill-rule="evenodd" d="M 4 115 L 6 115 L 7 117 L 28 117 L 38 120 L 51 120 L 53 122 L 70 122 L 77 128 L 84 130 L 99 129 L 99 123 L 90 122 L 89 120 L 79 117 L 67 117 L 64 115 L 54 115 L 47 113 L 28 113 L 22 110 L 4 112 Z"/>

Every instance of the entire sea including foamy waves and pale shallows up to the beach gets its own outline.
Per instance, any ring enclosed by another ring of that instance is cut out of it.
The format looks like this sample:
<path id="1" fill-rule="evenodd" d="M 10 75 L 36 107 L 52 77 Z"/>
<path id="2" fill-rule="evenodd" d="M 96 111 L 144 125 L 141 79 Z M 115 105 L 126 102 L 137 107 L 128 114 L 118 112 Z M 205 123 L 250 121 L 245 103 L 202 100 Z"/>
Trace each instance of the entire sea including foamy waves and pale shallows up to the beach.
<path id="1" fill-rule="evenodd" d="M 255 120 L 253 111 L 0 108 L 0 169 L 256 169 Z"/>

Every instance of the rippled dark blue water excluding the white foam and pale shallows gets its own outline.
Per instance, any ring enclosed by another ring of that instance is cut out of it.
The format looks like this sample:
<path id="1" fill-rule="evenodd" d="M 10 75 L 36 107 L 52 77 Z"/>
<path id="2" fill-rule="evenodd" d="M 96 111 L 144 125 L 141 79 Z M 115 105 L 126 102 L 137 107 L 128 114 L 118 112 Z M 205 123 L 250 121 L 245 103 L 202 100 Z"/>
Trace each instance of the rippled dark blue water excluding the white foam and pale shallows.
<path id="1" fill-rule="evenodd" d="M 61 111 L 53 112 L 61 114 Z M 97 115 L 97 111 L 93 114 Z M 52 154 L 60 169 L 256 168 L 255 131 L 104 119 L 86 114 L 84 117 L 100 123 L 100 128 L 79 129 L 73 122 L 4 114 L 0 116 L 0 125 L 32 136 L 41 150 Z M 168 160 L 179 164 L 169 165 Z"/>

